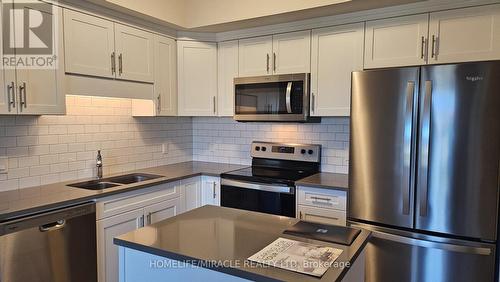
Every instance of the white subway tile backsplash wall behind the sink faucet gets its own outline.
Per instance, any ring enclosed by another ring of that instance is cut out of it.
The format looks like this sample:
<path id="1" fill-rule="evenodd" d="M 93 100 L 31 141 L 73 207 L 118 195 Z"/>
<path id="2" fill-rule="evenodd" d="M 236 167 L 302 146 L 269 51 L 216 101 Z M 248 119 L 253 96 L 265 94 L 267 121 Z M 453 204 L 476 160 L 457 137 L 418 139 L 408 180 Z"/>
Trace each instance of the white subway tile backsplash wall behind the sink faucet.
<path id="1" fill-rule="evenodd" d="M 98 149 L 105 174 L 192 158 L 191 118 L 133 118 L 129 99 L 67 96 L 66 104 L 66 116 L 0 116 L 9 166 L 0 191 L 92 177 Z"/>

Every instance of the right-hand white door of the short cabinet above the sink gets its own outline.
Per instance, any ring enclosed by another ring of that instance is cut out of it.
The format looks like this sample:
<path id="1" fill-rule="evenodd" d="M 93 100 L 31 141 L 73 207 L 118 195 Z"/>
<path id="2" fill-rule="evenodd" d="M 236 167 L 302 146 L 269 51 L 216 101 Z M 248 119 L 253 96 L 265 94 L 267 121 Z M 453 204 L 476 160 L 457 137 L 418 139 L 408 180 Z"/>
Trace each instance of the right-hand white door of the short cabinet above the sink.
<path id="1" fill-rule="evenodd" d="M 117 78 L 154 81 L 153 34 L 130 26 L 115 24 Z"/>

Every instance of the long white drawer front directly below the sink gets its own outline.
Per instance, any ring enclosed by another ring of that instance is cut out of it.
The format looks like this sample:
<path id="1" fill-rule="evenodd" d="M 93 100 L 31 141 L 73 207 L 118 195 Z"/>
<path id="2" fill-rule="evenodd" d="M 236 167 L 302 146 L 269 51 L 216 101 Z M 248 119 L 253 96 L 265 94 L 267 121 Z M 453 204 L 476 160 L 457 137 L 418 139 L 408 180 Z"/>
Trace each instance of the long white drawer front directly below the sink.
<path id="1" fill-rule="evenodd" d="M 104 198 L 96 204 L 96 216 L 97 219 L 102 219 L 179 196 L 179 181 L 160 184 L 143 190 Z"/>

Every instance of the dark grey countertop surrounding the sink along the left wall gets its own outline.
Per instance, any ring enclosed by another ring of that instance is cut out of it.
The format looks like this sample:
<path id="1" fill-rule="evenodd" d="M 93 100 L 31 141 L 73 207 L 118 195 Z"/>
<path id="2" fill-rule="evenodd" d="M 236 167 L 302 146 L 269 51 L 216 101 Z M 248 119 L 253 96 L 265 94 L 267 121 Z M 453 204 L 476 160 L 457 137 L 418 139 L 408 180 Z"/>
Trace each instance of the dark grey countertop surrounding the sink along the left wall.
<path id="1" fill-rule="evenodd" d="M 209 162 L 184 162 L 115 174 L 124 175 L 127 173 L 141 172 L 162 175 L 163 177 L 135 184 L 121 185 L 104 190 L 86 190 L 66 186 L 67 184 L 90 180 L 80 179 L 0 192 L 0 222 L 45 210 L 89 202 L 105 196 L 133 191 L 183 178 L 198 175 L 219 176 L 221 173 L 243 167 L 246 166 Z M 106 175 L 105 177 L 107 178 L 109 176 L 114 175 Z"/>

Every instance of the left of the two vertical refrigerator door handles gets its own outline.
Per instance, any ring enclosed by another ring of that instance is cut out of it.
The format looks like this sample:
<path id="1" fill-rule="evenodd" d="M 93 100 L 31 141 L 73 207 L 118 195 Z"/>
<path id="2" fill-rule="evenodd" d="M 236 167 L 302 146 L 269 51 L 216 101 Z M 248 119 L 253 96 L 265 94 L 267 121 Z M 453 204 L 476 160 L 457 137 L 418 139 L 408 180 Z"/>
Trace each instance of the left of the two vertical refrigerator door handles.
<path id="1" fill-rule="evenodd" d="M 415 81 L 406 84 L 406 110 L 404 130 L 404 174 L 403 174 L 403 214 L 410 214 L 410 162 L 411 162 L 411 138 L 413 119 L 413 93 L 415 92 Z"/>

